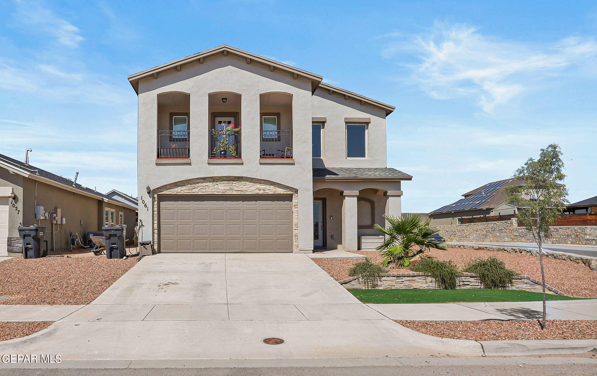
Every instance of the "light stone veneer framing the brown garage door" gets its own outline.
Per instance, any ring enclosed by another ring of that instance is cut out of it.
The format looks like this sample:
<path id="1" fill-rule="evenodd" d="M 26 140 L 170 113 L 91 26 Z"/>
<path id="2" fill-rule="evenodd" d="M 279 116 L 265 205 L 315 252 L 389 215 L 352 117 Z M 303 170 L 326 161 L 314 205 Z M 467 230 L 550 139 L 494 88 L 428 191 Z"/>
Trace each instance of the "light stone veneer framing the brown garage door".
<path id="1" fill-rule="evenodd" d="M 298 251 L 297 190 L 273 181 L 250 177 L 204 177 L 165 184 L 152 190 L 153 244 L 158 249 L 159 195 L 293 195 L 293 249 Z"/>

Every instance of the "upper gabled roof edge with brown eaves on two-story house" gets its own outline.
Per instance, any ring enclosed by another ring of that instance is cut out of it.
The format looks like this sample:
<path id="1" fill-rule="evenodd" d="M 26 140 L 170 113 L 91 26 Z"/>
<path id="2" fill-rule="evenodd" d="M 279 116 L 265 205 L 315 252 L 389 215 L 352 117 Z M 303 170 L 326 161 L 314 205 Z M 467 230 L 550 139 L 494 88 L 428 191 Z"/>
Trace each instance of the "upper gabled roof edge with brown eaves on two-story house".
<path id="1" fill-rule="evenodd" d="M 395 110 L 396 108 L 390 106 L 389 104 L 365 97 L 364 95 L 352 93 L 352 91 L 347 91 L 341 88 L 334 87 L 332 85 L 324 84 L 321 82 L 323 77 L 320 75 L 316 75 L 315 73 L 307 72 L 306 70 L 298 69 L 297 67 L 280 63 L 279 61 L 275 61 L 270 58 L 259 56 L 247 51 L 239 50 L 238 48 L 225 44 L 218 47 L 210 48 L 210 50 L 201 51 L 200 53 L 179 58 L 178 60 L 170 61 L 170 63 L 165 63 L 150 69 L 143 70 L 139 73 L 135 73 L 134 75 L 128 76 L 128 81 L 131 83 L 131 86 L 133 86 L 135 92 L 139 94 L 139 81 L 141 79 L 151 77 L 154 75 L 159 75 L 159 73 L 171 69 L 180 70 L 182 66 L 186 64 L 195 63 L 196 61 L 202 63 L 205 60 L 205 58 L 216 56 L 219 54 L 224 54 L 224 56 L 230 54 L 233 56 L 242 57 L 247 59 L 247 63 L 255 62 L 263 64 L 265 66 L 268 66 L 270 70 L 278 69 L 282 70 L 283 72 L 288 72 L 292 75 L 296 75 L 297 77 L 309 79 L 311 81 L 311 93 L 315 93 L 315 90 L 318 87 L 324 88 L 325 90 L 331 90 L 341 95 L 345 95 L 347 98 L 355 98 L 356 100 L 362 101 L 364 103 L 368 103 L 376 107 L 381 107 L 382 109 L 386 110 L 386 116 L 390 115 L 390 113 L 392 113 L 393 110 Z"/>

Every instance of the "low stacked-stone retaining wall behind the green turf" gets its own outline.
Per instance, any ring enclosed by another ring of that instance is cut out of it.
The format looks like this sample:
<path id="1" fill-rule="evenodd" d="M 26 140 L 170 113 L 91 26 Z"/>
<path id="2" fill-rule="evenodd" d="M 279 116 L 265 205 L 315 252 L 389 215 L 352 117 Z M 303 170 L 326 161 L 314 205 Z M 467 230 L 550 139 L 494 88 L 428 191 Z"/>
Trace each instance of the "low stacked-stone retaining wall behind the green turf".
<path id="1" fill-rule="evenodd" d="M 460 281 L 456 288 L 484 288 L 479 281 L 479 276 L 473 273 L 460 273 Z M 365 289 L 365 285 L 359 276 L 338 281 L 345 288 Z M 435 278 L 426 273 L 384 273 L 377 289 L 436 289 Z M 568 296 L 552 286 L 545 285 L 546 293 L 552 295 Z M 541 292 L 541 281 L 529 276 L 516 276 L 514 283 L 508 289 L 519 291 Z"/>

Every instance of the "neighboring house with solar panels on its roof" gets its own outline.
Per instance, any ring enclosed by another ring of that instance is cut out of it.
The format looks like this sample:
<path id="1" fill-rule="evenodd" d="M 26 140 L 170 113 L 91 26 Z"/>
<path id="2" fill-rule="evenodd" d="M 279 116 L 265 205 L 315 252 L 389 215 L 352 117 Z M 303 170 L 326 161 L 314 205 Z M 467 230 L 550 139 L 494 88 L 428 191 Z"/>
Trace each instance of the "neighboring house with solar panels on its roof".
<path id="1" fill-rule="evenodd" d="M 516 214 L 515 205 L 506 202 L 504 188 L 522 184 L 513 178 L 493 181 L 462 195 L 464 198 L 429 213 L 431 224 L 458 224 L 460 218 Z"/>

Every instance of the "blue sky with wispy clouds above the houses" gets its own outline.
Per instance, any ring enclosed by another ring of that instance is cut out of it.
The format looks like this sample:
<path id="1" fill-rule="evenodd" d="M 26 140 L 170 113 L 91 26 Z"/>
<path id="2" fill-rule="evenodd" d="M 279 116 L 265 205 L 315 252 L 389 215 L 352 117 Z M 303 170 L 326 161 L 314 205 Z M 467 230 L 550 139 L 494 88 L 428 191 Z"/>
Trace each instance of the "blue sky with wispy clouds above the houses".
<path id="1" fill-rule="evenodd" d="M 396 106 L 388 166 L 427 212 L 549 143 L 597 195 L 595 1 L 2 1 L 0 153 L 136 195 L 127 75 L 221 44 Z"/>

